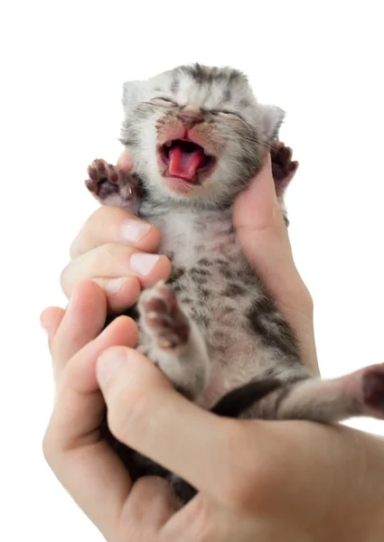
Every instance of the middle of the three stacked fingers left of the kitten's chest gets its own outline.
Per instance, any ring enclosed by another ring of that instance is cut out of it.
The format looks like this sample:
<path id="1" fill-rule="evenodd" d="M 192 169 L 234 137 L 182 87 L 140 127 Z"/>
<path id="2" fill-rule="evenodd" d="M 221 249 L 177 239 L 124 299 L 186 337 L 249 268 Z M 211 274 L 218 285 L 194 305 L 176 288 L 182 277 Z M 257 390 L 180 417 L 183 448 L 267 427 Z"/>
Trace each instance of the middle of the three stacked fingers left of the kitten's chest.
<path id="1" fill-rule="evenodd" d="M 143 287 L 155 285 L 171 274 L 171 262 L 165 256 L 139 252 L 136 248 L 107 243 L 71 260 L 61 272 L 61 288 L 70 297 L 74 285 L 94 278 L 114 279 L 105 282 L 108 290 L 119 287 L 116 279 L 134 276 Z M 121 284 L 120 284 L 121 285 Z M 134 286 L 135 287 L 135 286 Z"/>

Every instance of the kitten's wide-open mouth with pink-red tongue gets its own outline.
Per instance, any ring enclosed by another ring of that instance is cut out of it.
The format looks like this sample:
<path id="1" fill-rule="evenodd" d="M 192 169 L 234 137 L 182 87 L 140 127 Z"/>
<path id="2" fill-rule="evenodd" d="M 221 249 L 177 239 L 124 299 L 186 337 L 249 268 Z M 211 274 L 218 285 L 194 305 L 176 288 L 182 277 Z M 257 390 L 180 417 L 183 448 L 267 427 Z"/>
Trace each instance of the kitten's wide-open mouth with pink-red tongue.
<path id="1" fill-rule="evenodd" d="M 174 139 L 162 145 L 160 156 L 169 177 L 177 177 L 183 181 L 198 183 L 198 173 L 206 173 L 215 164 L 213 156 L 206 154 L 201 145 L 190 140 Z"/>

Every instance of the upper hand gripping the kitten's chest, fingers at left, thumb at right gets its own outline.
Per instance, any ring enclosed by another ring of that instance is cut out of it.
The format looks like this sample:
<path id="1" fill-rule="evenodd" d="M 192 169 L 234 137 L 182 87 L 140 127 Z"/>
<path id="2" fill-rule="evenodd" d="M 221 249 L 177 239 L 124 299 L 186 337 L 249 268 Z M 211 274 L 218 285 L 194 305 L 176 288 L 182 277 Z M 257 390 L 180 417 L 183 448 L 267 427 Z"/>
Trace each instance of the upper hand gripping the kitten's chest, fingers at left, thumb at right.
<path id="1" fill-rule="evenodd" d="M 117 167 L 125 173 L 132 169 L 126 152 L 119 156 Z M 249 189 L 235 201 L 233 222 L 245 255 L 295 329 L 305 364 L 318 373 L 313 302 L 295 266 L 276 199 L 269 154 Z M 159 241 L 160 234 L 154 225 L 138 220 L 126 210 L 100 207 L 71 244 L 70 263 L 61 273 L 64 294 L 69 299 L 74 285 L 91 279 L 104 288 L 108 309 L 115 313 L 123 311 L 136 303 L 142 287 L 170 276 L 168 258 L 151 254 Z M 144 275 L 136 267 L 140 259 L 147 271 Z"/>

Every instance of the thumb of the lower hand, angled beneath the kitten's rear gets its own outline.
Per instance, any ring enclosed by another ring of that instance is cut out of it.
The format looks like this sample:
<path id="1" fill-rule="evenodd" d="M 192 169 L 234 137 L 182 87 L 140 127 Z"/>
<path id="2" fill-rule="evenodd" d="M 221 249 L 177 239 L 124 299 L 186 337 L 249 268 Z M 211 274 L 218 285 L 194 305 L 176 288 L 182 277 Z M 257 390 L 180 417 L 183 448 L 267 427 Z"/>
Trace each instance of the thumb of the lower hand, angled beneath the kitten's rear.
<path id="1" fill-rule="evenodd" d="M 239 425 L 233 420 L 214 416 L 179 395 L 164 373 L 136 350 L 106 350 L 98 359 L 97 377 L 117 440 L 207 495 L 217 495 L 218 486 L 231 483 L 227 473 L 233 477 L 239 470 Z"/>

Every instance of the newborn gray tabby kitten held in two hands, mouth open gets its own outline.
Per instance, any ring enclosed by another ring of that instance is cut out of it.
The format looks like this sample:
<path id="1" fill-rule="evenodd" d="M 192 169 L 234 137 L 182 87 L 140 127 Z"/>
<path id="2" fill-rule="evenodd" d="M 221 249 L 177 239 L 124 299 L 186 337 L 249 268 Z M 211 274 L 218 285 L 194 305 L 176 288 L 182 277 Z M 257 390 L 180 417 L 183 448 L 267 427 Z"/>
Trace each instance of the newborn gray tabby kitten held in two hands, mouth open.
<path id="1" fill-rule="evenodd" d="M 314 378 L 232 226 L 234 199 L 270 151 L 288 225 L 284 194 L 298 164 L 277 141 L 285 113 L 259 104 L 239 70 L 199 64 L 127 82 L 123 103 L 121 141 L 135 169 L 97 160 L 86 184 L 100 203 L 155 224 L 158 251 L 173 263 L 171 278 L 128 312 L 138 320 L 139 350 L 185 397 L 220 416 L 384 418 L 384 365 Z M 191 499 L 188 484 L 114 441 L 107 417 L 104 431 L 136 476 L 158 472 L 183 502 Z"/>

